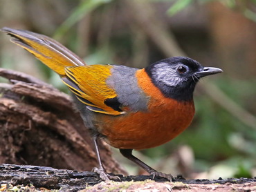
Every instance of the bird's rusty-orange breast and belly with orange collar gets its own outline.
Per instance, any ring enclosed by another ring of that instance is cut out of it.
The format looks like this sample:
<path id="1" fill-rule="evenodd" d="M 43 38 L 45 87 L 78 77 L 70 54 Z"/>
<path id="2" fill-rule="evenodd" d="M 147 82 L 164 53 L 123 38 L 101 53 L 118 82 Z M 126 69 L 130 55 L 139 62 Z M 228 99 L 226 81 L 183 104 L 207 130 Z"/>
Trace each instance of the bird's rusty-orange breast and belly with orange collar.
<path id="1" fill-rule="evenodd" d="M 138 85 L 150 97 L 148 111 L 113 117 L 101 115 L 98 122 L 105 141 L 116 148 L 152 148 L 169 142 L 192 122 L 194 102 L 177 102 L 166 98 L 145 70 L 136 73 Z M 103 123 L 104 122 L 104 123 Z"/>

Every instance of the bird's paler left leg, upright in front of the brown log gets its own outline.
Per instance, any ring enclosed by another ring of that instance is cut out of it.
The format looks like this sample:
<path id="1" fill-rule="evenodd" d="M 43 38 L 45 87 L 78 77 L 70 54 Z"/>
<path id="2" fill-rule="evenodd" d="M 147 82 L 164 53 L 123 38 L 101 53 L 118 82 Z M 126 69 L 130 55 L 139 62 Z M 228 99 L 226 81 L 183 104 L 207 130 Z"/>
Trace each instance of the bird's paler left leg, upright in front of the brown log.
<path id="1" fill-rule="evenodd" d="M 93 143 L 95 146 L 95 151 L 96 151 L 98 164 L 99 164 L 99 168 L 95 167 L 93 169 L 93 171 L 98 173 L 100 175 L 100 178 L 104 181 L 120 180 L 120 177 L 109 175 L 109 174 L 107 174 L 106 169 L 104 169 L 104 166 L 103 166 L 103 164 L 101 162 L 101 158 L 100 158 L 100 151 L 99 151 L 99 147 L 98 147 L 98 137 L 97 136 L 93 137 Z"/>

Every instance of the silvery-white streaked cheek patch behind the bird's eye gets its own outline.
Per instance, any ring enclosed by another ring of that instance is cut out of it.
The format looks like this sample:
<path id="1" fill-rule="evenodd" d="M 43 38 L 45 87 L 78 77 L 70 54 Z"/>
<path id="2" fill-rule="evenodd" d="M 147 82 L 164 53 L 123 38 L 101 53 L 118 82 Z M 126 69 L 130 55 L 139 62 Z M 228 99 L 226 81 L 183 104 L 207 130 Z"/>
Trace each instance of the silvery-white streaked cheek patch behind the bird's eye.
<path id="1" fill-rule="evenodd" d="M 178 74 L 176 74 L 176 70 L 170 68 L 170 66 L 165 63 L 161 63 L 156 66 L 154 79 L 167 86 L 177 86 L 183 80 Z"/>

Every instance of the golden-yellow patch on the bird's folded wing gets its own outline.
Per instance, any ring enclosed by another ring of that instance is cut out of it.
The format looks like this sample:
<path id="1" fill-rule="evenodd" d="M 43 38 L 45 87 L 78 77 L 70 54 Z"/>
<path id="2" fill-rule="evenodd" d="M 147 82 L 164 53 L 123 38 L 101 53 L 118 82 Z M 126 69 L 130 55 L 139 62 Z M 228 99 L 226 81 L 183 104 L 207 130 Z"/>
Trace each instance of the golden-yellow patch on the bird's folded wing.
<path id="1" fill-rule="evenodd" d="M 104 104 L 106 99 L 117 97 L 116 91 L 110 88 L 106 80 L 111 75 L 112 66 L 91 65 L 65 68 L 68 79 L 62 79 L 80 102 L 91 111 L 108 115 L 120 115 L 122 112 Z"/>

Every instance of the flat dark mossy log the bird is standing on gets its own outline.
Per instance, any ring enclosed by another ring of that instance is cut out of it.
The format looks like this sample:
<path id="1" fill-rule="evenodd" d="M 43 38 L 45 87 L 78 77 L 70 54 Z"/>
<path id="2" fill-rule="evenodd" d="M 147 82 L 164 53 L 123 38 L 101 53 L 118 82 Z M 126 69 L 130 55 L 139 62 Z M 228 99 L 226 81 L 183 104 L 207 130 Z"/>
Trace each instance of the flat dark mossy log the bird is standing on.
<path id="1" fill-rule="evenodd" d="M 0 166 L 0 183 L 2 189 L 12 189 L 19 185 L 25 191 L 40 189 L 57 189 L 60 191 L 255 191 L 254 179 L 222 180 L 185 180 L 183 177 L 168 182 L 161 177 L 138 175 L 118 175 L 118 182 L 102 182 L 97 173 L 85 171 L 58 170 L 45 166 L 17 166 L 2 164 Z M 33 184 L 33 189 L 31 189 Z"/>

